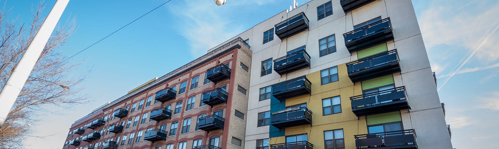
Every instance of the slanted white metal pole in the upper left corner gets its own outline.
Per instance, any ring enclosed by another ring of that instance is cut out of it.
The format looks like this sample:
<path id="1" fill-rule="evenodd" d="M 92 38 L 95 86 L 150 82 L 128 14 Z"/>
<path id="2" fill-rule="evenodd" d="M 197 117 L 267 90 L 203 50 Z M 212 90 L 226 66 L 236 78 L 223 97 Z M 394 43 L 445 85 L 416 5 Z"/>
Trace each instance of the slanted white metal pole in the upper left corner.
<path id="1" fill-rule="evenodd" d="M 33 70 L 69 0 L 57 0 L 0 92 L 0 128 Z"/>

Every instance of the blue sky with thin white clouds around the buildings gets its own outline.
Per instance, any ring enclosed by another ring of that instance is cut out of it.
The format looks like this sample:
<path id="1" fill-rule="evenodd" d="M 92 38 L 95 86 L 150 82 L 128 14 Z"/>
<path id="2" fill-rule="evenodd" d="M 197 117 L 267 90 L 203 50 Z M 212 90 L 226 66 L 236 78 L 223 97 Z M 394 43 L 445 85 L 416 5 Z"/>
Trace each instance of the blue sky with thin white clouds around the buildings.
<path id="1" fill-rule="evenodd" d="M 58 48 L 71 56 L 166 0 L 71 0 L 61 20 L 76 16 L 78 29 Z M 298 5 L 309 0 L 296 0 Z M 0 1 L 20 23 L 35 0 Z M 45 14 L 55 0 L 45 0 Z M 78 54 L 71 74 L 86 76 L 80 87 L 91 102 L 72 110 L 47 106 L 26 148 L 61 148 L 69 126 L 127 91 L 192 61 L 223 41 L 289 8 L 292 0 L 172 0 Z M 499 1 L 413 0 L 440 100 L 446 104 L 454 148 L 499 148 Z M 90 71 L 89 71 L 90 70 Z"/>

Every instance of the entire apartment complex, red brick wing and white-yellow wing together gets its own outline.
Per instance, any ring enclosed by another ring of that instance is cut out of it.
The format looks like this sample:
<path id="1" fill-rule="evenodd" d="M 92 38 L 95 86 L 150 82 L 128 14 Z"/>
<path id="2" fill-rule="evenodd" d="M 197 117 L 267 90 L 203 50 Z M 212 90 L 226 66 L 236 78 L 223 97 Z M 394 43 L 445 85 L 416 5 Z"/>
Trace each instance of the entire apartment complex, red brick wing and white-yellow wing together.
<path id="1" fill-rule="evenodd" d="M 65 147 L 90 145 L 452 149 L 411 0 L 282 11 L 78 120 Z"/>

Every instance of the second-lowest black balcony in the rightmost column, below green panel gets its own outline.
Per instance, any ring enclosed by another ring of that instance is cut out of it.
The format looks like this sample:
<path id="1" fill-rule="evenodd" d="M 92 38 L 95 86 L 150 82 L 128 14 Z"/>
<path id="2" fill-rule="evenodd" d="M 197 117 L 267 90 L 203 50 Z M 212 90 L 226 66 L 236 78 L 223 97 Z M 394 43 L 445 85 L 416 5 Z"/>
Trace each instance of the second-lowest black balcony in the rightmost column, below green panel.
<path id="1" fill-rule="evenodd" d="M 350 97 L 357 116 L 409 109 L 405 86 Z"/>

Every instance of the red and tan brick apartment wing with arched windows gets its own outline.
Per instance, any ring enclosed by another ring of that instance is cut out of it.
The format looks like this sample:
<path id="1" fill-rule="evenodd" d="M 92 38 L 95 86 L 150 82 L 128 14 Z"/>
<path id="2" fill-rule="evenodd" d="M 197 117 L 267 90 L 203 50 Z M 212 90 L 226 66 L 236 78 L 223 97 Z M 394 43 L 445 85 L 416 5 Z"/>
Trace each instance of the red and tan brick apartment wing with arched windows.
<path id="1" fill-rule="evenodd" d="M 64 148 L 240 149 L 251 69 L 241 38 L 77 120 Z"/>

